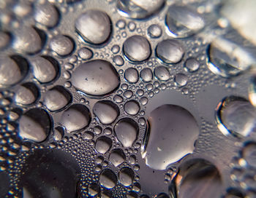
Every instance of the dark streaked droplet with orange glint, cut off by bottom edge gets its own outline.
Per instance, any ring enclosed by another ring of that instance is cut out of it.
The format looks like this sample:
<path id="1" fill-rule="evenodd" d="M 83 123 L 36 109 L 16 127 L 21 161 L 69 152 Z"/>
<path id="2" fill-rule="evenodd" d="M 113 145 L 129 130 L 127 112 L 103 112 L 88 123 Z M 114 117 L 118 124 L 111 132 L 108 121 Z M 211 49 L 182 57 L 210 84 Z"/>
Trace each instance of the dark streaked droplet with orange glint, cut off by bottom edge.
<path id="1" fill-rule="evenodd" d="M 205 159 L 190 159 L 180 167 L 170 184 L 171 195 L 181 198 L 219 198 L 222 178 L 219 170 Z"/>

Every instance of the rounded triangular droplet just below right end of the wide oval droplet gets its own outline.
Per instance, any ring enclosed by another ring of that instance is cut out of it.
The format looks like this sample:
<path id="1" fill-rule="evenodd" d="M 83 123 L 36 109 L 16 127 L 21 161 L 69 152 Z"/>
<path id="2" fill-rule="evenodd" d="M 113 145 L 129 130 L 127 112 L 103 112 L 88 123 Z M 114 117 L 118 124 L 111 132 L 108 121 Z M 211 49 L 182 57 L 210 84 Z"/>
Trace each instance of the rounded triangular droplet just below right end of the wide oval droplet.
<path id="1" fill-rule="evenodd" d="M 118 106 L 109 100 L 101 100 L 95 103 L 93 112 L 102 124 L 113 123 L 119 115 Z"/>

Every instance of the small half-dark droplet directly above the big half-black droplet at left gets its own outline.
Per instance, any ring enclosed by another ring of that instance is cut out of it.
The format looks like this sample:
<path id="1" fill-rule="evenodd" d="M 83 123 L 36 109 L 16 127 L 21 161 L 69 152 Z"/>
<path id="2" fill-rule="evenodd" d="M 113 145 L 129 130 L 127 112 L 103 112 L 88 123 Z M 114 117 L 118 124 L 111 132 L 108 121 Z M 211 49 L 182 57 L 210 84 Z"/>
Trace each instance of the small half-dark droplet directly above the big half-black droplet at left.
<path id="1" fill-rule="evenodd" d="M 15 103 L 30 105 L 39 97 L 39 90 L 34 83 L 27 82 L 22 84 L 15 92 Z"/>

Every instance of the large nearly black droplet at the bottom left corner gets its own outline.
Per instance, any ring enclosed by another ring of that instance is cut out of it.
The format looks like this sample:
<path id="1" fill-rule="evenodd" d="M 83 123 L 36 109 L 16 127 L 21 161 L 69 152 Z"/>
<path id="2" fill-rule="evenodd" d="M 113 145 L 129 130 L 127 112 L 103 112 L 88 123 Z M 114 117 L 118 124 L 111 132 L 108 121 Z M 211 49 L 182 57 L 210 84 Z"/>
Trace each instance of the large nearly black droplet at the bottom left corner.
<path id="1" fill-rule="evenodd" d="M 64 151 L 35 150 L 26 159 L 22 173 L 21 185 L 31 197 L 77 197 L 80 167 Z"/>

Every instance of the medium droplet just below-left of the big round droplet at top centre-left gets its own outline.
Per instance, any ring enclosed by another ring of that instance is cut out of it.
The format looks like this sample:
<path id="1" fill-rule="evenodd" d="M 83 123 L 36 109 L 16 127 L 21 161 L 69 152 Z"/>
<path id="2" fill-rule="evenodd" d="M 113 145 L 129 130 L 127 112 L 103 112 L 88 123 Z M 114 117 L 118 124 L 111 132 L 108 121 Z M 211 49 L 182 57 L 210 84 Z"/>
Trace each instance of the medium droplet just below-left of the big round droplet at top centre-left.
<path id="1" fill-rule="evenodd" d="M 74 41 L 69 36 L 55 36 L 50 41 L 50 49 L 60 56 L 66 56 L 74 49 Z"/>

